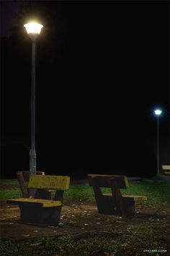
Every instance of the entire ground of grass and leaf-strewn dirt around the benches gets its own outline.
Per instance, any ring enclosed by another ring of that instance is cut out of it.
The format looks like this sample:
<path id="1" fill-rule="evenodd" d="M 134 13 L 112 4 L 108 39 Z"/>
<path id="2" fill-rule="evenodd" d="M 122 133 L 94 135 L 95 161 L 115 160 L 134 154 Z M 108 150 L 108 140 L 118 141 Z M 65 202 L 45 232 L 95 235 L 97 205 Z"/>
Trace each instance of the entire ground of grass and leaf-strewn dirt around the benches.
<path id="1" fill-rule="evenodd" d="M 17 184 L 16 184 L 17 185 Z M 170 255 L 169 184 L 130 182 L 129 195 L 146 195 L 131 218 L 103 216 L 87 185 L 65 193 L 61 226 L 37 227 L 18 223 L 19 208 L 6 198 L 19 190 L 1 190 L 1 255 L 125 256 Z M 127 192 L 125 189 L 122 192 Z"/>

